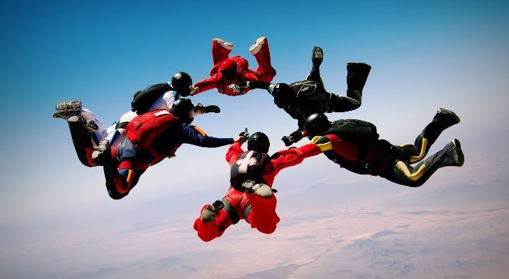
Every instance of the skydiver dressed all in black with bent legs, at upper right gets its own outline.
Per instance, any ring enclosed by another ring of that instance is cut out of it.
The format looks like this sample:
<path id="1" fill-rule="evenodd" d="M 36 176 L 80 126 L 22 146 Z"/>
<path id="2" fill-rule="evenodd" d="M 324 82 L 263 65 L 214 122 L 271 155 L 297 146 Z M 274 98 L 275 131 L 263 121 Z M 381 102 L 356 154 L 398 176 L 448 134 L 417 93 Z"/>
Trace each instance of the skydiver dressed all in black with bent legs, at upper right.
<path id="1" fill-rule="evenodd" d="M 368 79 L 371 66 L 366 63 L 348 62 L 346 96 L 329 93 L 320 77 L 320 65 L 323 61 L 323 50 L 313 47 L 311 61 L 313 67 L 306 80 L 292 84 L 272 84 L 266 81 L 249 82 L 250 89 L 266 89 L 274 98 L 274 103 L 297 119 L 299 129 L 282 138 L 286 146 L 302 139 L 304 121 L 313 113 L 348 112 L 361 106 L 362 90 Z"/>

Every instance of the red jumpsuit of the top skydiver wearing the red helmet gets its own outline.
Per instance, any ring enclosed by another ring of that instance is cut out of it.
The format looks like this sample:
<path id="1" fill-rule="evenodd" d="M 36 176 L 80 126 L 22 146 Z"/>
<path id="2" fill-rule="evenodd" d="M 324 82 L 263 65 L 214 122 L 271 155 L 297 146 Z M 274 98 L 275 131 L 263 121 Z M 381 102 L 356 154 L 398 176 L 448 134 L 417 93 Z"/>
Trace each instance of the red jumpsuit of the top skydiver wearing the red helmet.
<path id="1" fill-rule="evenodd" d="M 257 54 L 254 54 L 254 58 L 257 59 L 258 62 L 257 70 L 250 69 L 248 61 L 241 56 L 230 57 L 230 59 L 237 63 L 238 75 L 236 80 L 227 82 L 226 80 L 223 80 L 220 73 L 220 64 L 224 59 L 228 58 L 230 52 L 231 50 L 227 50 L 226 48 L 222 47 L 220 43 L 217 43 L 217 41 L 213 40 L 212 57 L 214 66 L 210 70 L 210 77 L 194 84 L 195 87 L 198 87 L 198 90 L 196 90 L 193 95 L 215 88 L 217 91 L 219 91 L 219 93 L 228 96 L 239 96 L 250 91 L 250 88 L 243 89 L 241 92 L 235 92 L 229 89 L 228 86 L 230 84 L 245 86 L 245 82 L 251 80 L 271 82 L 275 77 L 275 69 L 271 66 L 271 52 L 268 49 L 268 43 L 266 40 L 264 45 L 261 47 L 261 50 L 259 50 Z"/>

